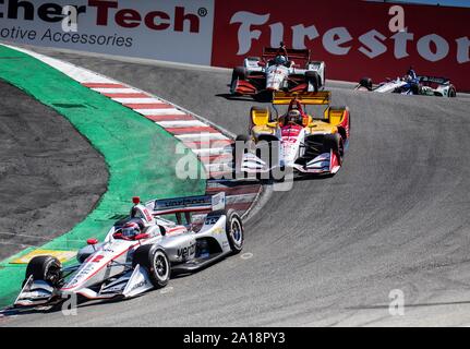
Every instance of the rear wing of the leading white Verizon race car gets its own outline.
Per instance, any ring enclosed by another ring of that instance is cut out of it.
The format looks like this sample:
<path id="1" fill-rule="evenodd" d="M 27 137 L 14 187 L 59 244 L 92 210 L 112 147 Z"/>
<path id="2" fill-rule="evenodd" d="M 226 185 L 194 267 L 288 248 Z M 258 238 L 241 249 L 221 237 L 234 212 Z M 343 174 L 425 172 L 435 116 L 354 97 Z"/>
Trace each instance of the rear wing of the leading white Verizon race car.
<path id="1" fill-rule="evenodd" d="M 225 209 L 226 195 L 225 192 L 220 192 L 215 195 L 155 200 L 153 206 L 153 214 L 156 216 L 218 210 Z"/>

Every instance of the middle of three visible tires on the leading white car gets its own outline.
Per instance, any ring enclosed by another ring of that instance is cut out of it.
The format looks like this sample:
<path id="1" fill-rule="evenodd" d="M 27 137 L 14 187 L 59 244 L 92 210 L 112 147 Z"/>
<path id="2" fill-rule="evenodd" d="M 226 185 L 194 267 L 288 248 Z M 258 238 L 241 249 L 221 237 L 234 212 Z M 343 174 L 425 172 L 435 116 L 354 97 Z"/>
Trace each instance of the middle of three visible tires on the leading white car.
<path id="1" fill-rule="evenodd" d="M 171 264 L 167 253 L 152 244 L 140 246 L 132 258 L 132 266 L 145 267 L 155 288 L 168 285 L 171 277 Z"/>

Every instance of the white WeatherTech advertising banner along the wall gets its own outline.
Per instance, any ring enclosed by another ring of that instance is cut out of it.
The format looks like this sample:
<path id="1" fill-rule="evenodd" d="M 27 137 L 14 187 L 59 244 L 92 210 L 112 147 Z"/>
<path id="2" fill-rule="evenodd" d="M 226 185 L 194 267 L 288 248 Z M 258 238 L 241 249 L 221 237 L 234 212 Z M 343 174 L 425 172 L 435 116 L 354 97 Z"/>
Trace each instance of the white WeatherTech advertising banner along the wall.
<path id="1" fill-rule="evenodd" d="M 214 0 L 0 0 L 0 40 L 173 62 L 209 65 L 213 24 Z"/>

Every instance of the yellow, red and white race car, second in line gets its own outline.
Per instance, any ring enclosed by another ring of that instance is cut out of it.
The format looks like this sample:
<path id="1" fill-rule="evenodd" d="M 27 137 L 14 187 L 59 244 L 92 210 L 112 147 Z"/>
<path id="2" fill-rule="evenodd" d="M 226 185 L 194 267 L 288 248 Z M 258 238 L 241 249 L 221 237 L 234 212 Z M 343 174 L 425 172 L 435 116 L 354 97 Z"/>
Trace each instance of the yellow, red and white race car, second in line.
<path id="1" fill-rule="evenodd" d="M 327 91 L 277 92 L 273 110 L 252 108 L 250 135 L 237 137 L 236 171 L 270 173 L 292 168 L 300 173 L 336 173 L 349 146 L 351 116 L 348 107 L 332 107 L 330 99 Z M 279 106 L 287 110 L 279 111 Z"/>

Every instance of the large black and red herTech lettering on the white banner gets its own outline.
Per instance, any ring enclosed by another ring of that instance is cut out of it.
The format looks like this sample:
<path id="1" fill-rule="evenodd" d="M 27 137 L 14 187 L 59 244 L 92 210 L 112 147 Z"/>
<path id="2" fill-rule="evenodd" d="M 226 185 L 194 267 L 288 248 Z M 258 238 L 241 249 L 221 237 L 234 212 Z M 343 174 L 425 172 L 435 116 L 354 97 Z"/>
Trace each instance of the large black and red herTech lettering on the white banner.
<path id="1" fill-rule="evenodd" d="M 207 10 L 198 9 L 197 14 L 189 12 L 184 7 L 174 7 L 171 13 L 158 9 L 140 12 L 134 9 L 122 9 L 119 1 L 88 0 L 87 5 L 70 5 L 76 9 L 77 21 L 84 15 L 96 13 L 94 23 L 97 26 L 108 26 L 115 23 L 122 28 L 147 27 L 152 31 L 167 31 L 200 33 L 201 17 L 206 16 Z M 64 19 L 62 5 L 47 2 L 38 5 L 27 0 L 0 0 L 0 19 L 58 23 Z"/>

